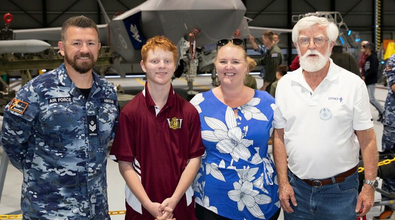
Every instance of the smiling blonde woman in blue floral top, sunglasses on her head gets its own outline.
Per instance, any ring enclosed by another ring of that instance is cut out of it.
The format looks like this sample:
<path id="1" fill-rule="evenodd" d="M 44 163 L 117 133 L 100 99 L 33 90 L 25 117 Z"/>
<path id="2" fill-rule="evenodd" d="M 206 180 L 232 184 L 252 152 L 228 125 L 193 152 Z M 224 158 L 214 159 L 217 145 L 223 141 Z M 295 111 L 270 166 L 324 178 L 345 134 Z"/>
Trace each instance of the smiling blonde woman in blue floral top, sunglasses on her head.
<path id="1" fill-rule="evenodd" d="M 280 212 L 268 154 L 275 100 L 244 86 L 246 57 L 242 40 L 217 42 L 221 85 L 191 100 L 206 148 L 193 185 L 199 220 L 276 220 Z"/>

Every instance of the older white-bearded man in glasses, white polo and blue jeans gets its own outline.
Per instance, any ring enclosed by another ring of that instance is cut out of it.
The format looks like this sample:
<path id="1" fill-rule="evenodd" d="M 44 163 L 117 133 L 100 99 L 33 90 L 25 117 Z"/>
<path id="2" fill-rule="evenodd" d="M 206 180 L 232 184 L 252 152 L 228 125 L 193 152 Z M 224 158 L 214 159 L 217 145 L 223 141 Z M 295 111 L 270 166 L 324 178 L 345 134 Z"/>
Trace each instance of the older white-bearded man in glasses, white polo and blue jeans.
<path id="1" fill-rule="evenodd" d="M 377 149 L 364 82 L 329 58 L 337 26 L 310 16 L 292 30 L 300 68 L 276 89 L 274 159 L 285 220 L 356 220 L 373 205 Z M 358 152 L 365 165 L 358 196 Z"/>

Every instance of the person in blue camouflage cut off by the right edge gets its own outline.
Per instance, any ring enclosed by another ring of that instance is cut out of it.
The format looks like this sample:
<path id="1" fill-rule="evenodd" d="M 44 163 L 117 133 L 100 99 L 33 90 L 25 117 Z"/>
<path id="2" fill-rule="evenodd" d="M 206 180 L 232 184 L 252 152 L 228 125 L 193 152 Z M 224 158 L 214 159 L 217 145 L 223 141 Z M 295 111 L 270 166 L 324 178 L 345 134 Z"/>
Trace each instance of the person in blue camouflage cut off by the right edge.
<path id="1" fill-rule="evenodd" d="M 384 125 L 382 152 L 380 154 L 395 153 L 395 54 L 387 60 L 384 73 L 387 74 L 389 91 L 384 106 L 382 123 Z M 390 159 L 392 159 L 391 157 Z M 395 163 L 395 162 L 393 162 Z M 395 178 L 383 178 L 382 189 L 395 192 Z"/>

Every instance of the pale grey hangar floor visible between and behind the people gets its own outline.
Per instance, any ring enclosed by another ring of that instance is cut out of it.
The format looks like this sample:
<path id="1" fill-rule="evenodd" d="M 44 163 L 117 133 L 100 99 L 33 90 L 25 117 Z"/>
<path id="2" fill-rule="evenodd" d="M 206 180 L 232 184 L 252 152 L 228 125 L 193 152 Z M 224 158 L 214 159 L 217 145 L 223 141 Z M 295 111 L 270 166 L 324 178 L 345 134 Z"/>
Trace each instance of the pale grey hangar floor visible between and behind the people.
<path id="1" fill-rule="evenodd" d="M 263 84 L 262 78 L 259 76 L 254 76 L 257 80 L 258 88 Z M 137 94 L 144 87 L 143 77 L 138 78 L 108 78 L 112 83 L 119 84 L 125 90 L 127 94 Z M 11 86 L 15 89 L 18 88 L 18 81 L 13 82 Z M 186 93 L 187 83 L 184 78 L 178 78 L 173 81 L 173 88 L 176 92 L 187 98 Z M 198 76 L 194 88 L 197 91 L 206 91 L 213 88 L 211 86 L 210 76 Z M 377 85 L 376 87 L 376 98 L 384 105 L 384 100 L 387 96 L 387 88 L 382 85 Z M 383 132 L 383 125 L 377 122 L 378 111 L 371 105 L 371 111 L 374 119 L 374 130 L 377 137 L 377 147 L 381 149 L 381 137 Z M 2 117 L 1 117 L 2 122 Z M 270 151 L 271 151 L 271 147 Z M 2 148 L 0 148 L 0 154 L 2 154 Z M 108 197 L 109 197 L 109 209 L 110 211 L 125 210 L 124 207 L 124 180 L 118 172 L 118 165 L 112 160 L 108 160 L 107 165 L 107 179 L 108 179 Z M 20 214 L 20 192 L 21 192 L 21 182 L 22 174 L 16 170 L 11 164 L 9 164 L 7 173 L 5 176 L 5 183 L 3 187 L 3 192 L 0 201 L 0 215 L 15 215 Z M 381 184 L 381 183 L 380 183 Z M 376 192 L 375 200 L 380 200 L 380 194 Z M 378 216 L 381 213 L 380 207 L 373 207 L 371 211 L 367 214 L 367 220 L 372 220 L 374 216 Z M 114 215 L 111 216 L 112 220 L 123 220 L 124 215 Z M 282 213 L 279 220 L 283 220 Z"/>

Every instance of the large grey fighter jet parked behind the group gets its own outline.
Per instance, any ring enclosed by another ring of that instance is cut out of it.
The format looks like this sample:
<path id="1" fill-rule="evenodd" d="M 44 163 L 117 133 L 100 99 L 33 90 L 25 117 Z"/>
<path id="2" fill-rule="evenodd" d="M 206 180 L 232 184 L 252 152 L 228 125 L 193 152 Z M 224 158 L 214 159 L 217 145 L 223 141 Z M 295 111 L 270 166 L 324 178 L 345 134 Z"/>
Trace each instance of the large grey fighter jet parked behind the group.
<path id="1" fill-rule="evenodd" d="M 192 34 L 195 47 L 231 38 L 246 11 L 241 0 L 147 0 L 110 20 L 98 3 L 106 20 L 98 25 L 100 41 L 115 51 L 115 64 L 140 62 L 142 45 L 156 35 L 177 44 Z M 60 27 L 14 30 L 13 39 L 59 41 Z M 124 76 L 124 71 L 115 69 Z"/>

